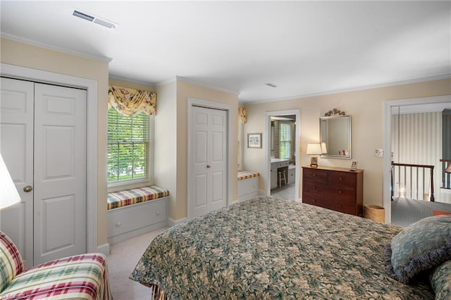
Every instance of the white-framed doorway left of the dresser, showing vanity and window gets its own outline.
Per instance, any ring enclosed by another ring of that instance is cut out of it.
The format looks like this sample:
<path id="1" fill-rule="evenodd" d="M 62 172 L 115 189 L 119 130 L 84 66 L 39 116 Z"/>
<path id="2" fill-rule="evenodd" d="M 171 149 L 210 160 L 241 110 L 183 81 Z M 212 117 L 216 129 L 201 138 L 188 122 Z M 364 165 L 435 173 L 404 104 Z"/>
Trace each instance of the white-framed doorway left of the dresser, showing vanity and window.
<path id="1" fill-rule="evenodd" d="M 300 161 L 297 151 L 299 149 L 299 124 L 298 109 L 266 113 L 265 128 L 266 137 L 268 137 L 266 139 L 266 178 L 268 178 L 266 194 L 268 196 L 280 196 L 299 201 Z M 285 180 L 280 180 L 279 174 L 285 175 Z"/>

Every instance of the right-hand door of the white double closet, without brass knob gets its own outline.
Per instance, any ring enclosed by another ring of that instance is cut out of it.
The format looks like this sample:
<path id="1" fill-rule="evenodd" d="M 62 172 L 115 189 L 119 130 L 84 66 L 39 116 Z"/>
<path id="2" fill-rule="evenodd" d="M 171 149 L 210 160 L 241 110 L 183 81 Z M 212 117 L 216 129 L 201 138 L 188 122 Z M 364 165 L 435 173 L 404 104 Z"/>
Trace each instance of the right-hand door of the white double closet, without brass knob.
<path id="1" fill-rule="evenodd" d="M 35 84 L 35 264 L 86 251 L 86 98 Z"/>

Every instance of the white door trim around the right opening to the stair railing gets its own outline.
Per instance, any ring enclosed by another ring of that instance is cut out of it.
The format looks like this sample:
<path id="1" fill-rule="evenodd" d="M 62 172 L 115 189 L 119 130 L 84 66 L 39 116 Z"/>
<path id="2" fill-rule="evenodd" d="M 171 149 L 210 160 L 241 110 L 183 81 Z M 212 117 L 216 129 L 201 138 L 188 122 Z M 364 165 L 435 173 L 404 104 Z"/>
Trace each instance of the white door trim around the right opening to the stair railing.
<path id="1" fill-rule="evenodd" d="M 428 98 L 404 99 L 384 102 L 384 158 L 383 158 L 383 206 L 385 208 L 385 221 L 392 223 L 392 112 L 402 110 L 413 110 L 415 107 L 446 106 L 451 104 L 451 96 L 434 96 Z M 423 109 L 417 112 L 421 112 Z"/>

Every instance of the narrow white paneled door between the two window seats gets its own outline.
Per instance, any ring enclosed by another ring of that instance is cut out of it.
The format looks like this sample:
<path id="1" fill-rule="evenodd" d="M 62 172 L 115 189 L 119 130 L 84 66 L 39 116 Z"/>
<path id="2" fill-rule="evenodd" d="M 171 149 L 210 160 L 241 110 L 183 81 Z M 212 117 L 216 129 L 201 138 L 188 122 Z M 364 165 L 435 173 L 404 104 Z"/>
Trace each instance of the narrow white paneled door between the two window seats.
<path id="1" fill-rule="evenodd" d="M 193 106 L 191 217 L 227 205 L 227 111 Z"/>

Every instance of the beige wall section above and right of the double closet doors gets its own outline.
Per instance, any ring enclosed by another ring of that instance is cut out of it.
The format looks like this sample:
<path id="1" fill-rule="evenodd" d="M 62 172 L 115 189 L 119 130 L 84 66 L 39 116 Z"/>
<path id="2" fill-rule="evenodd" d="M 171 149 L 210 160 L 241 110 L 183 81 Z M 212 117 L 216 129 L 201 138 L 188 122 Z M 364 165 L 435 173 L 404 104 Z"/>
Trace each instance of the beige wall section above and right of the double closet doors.
<path id="1" fill-rule="evenodd" d="M 106 120 L 108 63 L 1 38 L 0 62 L 97 82 L 97 245 L 106 244 Z"/>

